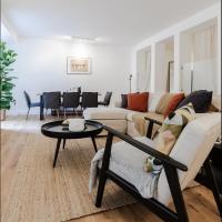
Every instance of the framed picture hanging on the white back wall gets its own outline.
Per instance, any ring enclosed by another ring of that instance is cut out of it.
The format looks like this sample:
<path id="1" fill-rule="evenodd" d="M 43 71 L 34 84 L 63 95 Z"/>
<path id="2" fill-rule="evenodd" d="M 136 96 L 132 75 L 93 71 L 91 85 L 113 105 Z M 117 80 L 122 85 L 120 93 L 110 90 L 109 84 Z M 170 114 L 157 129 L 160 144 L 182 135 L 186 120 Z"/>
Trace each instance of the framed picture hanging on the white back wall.
<path id="1" fill-rule="evenodd" d="M 68 74 L 89 74 L 91 72 L 90 58 L 67 58 L 67 73 Z"/>

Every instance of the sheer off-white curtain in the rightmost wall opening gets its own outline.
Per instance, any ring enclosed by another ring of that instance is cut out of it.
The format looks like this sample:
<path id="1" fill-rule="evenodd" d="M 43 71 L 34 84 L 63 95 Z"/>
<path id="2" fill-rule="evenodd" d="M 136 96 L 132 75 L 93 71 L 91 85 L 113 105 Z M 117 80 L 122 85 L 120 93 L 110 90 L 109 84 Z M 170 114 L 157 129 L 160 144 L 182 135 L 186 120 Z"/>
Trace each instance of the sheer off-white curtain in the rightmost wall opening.
<path id="1" fill-rule="evenodd" d="M 193 91 L 201 89 L 216 90 L 216 27 L 210 27 L 191 34 L 191 58 L 189 62 L 183 64 L 182 71 L 184 92 L 191 91 L 192 67 Z"/>

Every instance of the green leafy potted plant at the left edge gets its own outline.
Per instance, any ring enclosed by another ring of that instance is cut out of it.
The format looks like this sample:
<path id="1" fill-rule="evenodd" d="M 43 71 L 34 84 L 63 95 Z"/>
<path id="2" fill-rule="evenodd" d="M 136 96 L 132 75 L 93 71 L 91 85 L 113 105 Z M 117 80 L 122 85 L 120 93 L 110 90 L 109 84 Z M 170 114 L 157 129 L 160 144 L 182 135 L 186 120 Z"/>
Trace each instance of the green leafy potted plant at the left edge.
<path id="1" fill-rule="evenodd" d="M 0 42 L 0 74 L 1 74 L 1 98 L 0 98 L 0 111 L 1 121 L 6 119 L 6 110 L 10 109 L 13 101 L 12 89 L 14 84 L 12 80 L 14 77 L 10 75 L 13 71 L 11 64 L 16 61 L 17 53 L 13 50 L 7 49 L 6 42 Z"/>

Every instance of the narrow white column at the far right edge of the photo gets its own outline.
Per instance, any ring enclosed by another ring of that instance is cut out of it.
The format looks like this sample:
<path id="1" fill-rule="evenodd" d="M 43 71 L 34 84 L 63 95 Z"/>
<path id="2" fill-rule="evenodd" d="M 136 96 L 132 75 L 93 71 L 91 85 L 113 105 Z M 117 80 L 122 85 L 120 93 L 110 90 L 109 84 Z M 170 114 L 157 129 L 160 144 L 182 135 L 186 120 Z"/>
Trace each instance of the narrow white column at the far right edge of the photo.
<path id="1" fill-rule="evenodd" d="M 221 94 L 221 11 L 218 16 L 218 94 Z"/>

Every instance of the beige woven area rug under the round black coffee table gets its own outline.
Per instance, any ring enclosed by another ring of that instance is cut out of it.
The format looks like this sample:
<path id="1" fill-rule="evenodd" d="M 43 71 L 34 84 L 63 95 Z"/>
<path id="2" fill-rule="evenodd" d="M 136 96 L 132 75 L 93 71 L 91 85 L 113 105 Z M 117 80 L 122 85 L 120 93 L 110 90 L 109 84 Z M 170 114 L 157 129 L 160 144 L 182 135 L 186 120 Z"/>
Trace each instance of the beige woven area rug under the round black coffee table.
<path id="1" fill-rule="evenodd" d="M 88 192 L 90 161 L 94 155 L 90 139 L 67 141 L 53 169 L 56 140 L 41 134 L 11 133 L 16 132 L 8 132 L 2 144 L 10 150 L 19 145 L 22 151 L 10 185 L 4 189 L 3 222 L 67 221 L 135 202 L 123 190 L 108 183 L 102 208 L 94 206 L 95 192 Z"/>

